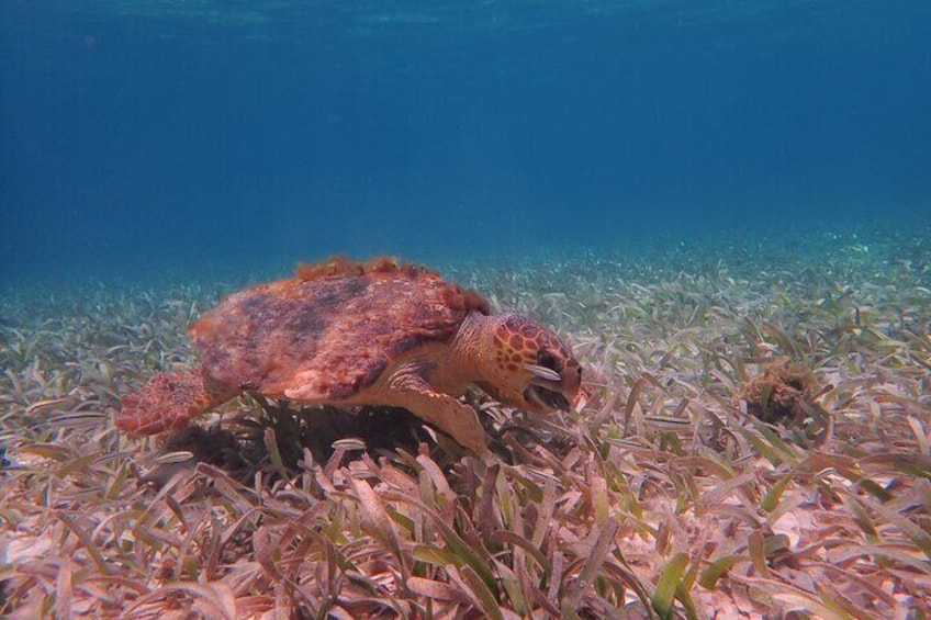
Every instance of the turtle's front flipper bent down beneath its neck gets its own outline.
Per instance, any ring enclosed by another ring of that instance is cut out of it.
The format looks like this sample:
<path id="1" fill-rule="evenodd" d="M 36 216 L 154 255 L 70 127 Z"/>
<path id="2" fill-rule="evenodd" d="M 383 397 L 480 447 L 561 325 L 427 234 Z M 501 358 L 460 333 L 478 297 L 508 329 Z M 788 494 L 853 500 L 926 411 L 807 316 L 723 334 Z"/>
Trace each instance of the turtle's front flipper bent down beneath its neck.
<path id="1" fill-rule="evenodd" d="M 402 368 L 395 372 L 389 387 L 392 405 L 404 407 L 480 456 L 489 449 L 475 409 L 437 392 L 415 369 Z"/>

